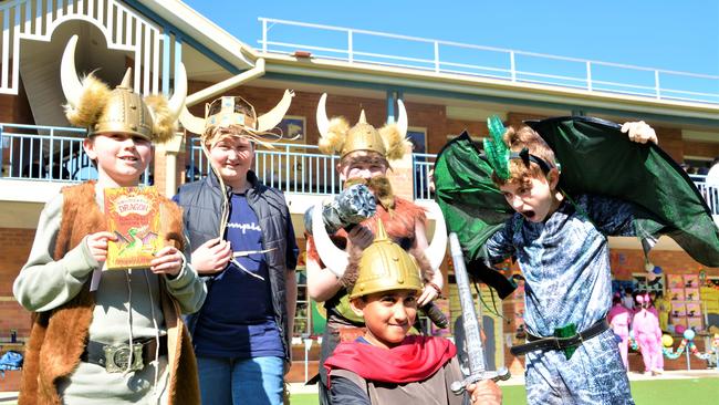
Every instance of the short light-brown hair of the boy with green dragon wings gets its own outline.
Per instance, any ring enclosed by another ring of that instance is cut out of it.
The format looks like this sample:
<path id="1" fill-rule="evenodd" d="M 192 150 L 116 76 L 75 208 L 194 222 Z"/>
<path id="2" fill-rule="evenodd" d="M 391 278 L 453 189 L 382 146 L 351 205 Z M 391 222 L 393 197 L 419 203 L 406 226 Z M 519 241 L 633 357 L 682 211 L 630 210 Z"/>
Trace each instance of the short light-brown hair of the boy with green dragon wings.
<path id="1" fill-rule="evenodd" d="M 554 150 L 542 139 L 542 137 L 529 126 L 523 126 L 519 131 L 509 127 L 502 136 L 504 143 L 509 145 L 511 152 L 521 152 L 523 148 L 529 149 L 531 155 L 534 155 L 542 160 L 546 162 L 550 167 L 556 167 L 556 159 Z M 546 174 L 542 172 L 540 165 L 534 162 L 527 164 L 522 159 L 509 160 L 509 178 L 502 179 L 492 173 L 492 181 L 498 186 L 506 184 L 528 184 L 530 178 L 544 177 Z"/>

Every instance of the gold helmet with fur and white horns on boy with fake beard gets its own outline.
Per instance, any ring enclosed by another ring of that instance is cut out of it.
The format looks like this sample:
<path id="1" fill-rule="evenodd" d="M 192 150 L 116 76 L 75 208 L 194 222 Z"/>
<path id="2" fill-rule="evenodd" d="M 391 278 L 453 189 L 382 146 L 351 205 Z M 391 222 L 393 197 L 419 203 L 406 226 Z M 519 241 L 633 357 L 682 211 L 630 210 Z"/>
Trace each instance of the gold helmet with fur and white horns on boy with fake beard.
<path id="1" fill-rule="evenodd" d="M 367 123 L 364 110 L 359 121 L 352 128 L 342 117 L 327 118 L 325 108 L 327 94 L 322 94 L 317 104 L 317 128 L 320 129 L 320 150 L 327 155 L 340 154 L 345 157 L 355 150 L 376 152 L 387 160 L 399 159 L 411 143 L 407 136 L 407 111 L 402 100 L 397 100 L 399 117 L 396 124 L 387 124 L 378 131 Z"/>

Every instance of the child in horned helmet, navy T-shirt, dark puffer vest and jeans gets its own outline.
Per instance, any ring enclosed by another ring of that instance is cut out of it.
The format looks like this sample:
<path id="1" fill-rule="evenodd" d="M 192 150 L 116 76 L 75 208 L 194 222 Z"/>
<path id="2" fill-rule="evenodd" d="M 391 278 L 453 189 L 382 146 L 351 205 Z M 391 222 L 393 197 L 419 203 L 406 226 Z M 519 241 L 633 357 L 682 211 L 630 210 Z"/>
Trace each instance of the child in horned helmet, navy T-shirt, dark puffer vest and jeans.
<path id="1" fill-rule="evenodd" d="M 298 247 L 282 191 L 252 172 L 256 145 L 271 147 L 269 132 L 294 94 L 257 116 L 239 96 L 215 100 L 204 118 L 185 111 L 186 129 L 200 134 L 212 170 L 180 188 L 192 266 L 208 297 L 188 325 L 197 354 L 204 404 L 282 404 L 291 361 L 296 304 Z"/>

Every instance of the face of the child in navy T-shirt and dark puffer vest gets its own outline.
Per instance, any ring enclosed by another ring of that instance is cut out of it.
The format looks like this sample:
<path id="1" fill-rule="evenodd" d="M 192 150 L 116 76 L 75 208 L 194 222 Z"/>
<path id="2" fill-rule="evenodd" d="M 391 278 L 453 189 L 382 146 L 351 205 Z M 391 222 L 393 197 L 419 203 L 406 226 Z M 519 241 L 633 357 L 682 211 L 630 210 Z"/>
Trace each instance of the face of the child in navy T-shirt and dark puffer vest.
<path id="1" fill-rule="evenodd" d="M 210 149 L 210 160 L 229 184 L 244 180 L 254 158 L 254 147 L 246 137 L 226 135 Z"/>

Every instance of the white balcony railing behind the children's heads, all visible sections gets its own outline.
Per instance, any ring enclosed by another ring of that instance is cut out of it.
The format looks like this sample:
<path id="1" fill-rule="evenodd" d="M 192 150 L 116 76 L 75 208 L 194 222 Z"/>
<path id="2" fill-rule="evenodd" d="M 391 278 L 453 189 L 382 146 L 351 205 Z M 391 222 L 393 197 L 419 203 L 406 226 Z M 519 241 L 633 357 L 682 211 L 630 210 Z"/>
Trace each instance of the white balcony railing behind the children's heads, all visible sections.
<path id="1" fill-rule="evenodd" d="M 82 147 L 85 131 L 66 127 L 0 123 L 0 179 L 80 183 L 97 177 L 97 170 Z M 436 155 L 413 154 L 414 198 L 434 199 L 431 172 Z M 187 149 L 186 181 L 209 173 L 198 138 Z M 315 145 L 275 145 L 258 149 L 254 172 L 268 186 L 288 194 L 332 195 L 342 184 L 336 174 L 336 156 L 321 154 Z M 719 187 L 707 185 L 706 176 L 691 176 L 713 215 L 719 215 Z M 145 172 L 143 184 L 153 184 Z"/>

